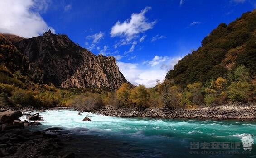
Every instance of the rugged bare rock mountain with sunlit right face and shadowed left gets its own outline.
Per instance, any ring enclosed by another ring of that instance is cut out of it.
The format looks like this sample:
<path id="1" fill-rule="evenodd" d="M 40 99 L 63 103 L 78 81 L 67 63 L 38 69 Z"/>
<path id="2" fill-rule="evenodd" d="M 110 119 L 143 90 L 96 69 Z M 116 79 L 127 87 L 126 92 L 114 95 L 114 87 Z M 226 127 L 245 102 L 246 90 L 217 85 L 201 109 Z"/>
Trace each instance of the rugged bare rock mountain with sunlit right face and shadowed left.
<path id="1" fill-rule="evenodd" d="M 66 35 L 55 35 L 49 30 L 43 36 L 16 40 L 13 44 L 29 62 L 43 70 L 44 83 L 63 88 L 113 91 L 127 82 L 114 57 L 95 56 Z"/>

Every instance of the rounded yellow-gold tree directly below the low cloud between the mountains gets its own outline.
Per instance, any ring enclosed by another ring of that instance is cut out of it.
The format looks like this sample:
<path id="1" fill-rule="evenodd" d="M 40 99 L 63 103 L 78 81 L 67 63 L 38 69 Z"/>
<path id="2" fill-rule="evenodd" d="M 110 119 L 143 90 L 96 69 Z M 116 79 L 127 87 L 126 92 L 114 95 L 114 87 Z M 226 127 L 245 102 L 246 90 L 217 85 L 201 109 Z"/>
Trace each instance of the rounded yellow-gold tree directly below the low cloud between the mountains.
<path id="1" fill-rule="evenodd" d="M 149 107 L 150 93 L 144 85 L 139 85 L 131 90 L 131 102 L 136 106 L 146 108 Z"/>

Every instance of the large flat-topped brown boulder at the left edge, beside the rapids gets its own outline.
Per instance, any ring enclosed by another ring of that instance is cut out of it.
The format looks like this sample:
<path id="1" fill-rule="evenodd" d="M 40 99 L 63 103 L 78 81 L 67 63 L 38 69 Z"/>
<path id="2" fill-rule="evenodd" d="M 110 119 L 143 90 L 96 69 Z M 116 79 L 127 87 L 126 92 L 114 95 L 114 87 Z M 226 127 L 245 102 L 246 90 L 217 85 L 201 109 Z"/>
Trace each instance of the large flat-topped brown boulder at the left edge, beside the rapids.
<path id="1" fill-rule="evenodd" d="M 14 120 L 18 120 L 19 117 L 22 116 L 21 111 L 4 111 L 0 112 L 0 121 L 2 124 L 4 123 L 12 123 Z"/>

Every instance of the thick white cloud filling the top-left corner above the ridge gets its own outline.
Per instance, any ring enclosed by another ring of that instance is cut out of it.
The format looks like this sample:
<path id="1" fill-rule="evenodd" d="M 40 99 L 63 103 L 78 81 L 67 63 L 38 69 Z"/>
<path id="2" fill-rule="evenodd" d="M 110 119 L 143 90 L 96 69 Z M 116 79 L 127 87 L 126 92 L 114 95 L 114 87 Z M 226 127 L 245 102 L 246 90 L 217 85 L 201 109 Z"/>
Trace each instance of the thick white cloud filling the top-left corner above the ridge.
<path id="1" fill-rule="evenodd" d="M 0 0 L 0 32 L 21 37 L 35 37 L 51 29 L 40 16 L 48 0 Z"/>

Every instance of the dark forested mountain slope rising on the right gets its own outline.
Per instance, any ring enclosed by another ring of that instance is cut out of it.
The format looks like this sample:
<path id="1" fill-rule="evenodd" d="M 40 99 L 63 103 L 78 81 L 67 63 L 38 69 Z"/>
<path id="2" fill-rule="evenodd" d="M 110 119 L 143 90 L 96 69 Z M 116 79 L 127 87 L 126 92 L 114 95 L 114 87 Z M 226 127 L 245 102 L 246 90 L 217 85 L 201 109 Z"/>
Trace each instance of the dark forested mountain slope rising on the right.
<path id="1" fill-rule="evenodd" d="M 230 24 L 221 23 L 202 41 L 202 46 L 184 56 L 166 74 L 176 84 L 190 84 L 227 77 L 238 65 L 256 74 L 256 9 Z"/>

